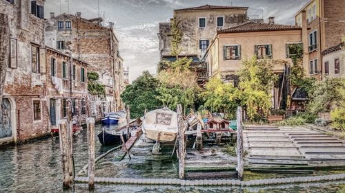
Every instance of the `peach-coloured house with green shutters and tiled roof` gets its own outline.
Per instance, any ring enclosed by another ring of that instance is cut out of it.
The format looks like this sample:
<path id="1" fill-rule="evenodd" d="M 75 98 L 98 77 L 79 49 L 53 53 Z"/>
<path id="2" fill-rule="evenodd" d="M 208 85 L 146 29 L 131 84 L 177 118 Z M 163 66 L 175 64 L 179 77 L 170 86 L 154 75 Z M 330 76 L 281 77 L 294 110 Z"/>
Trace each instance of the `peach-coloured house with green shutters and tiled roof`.
<path id="1" fill-rule="evenodd" d="M 302 29 L 295 25 L 278 25 L 273 18 L 270 23 L 253 21 L 218 30 L 205 54 L 210 77 L 221 78 L 224 82 L 238 84 L 236 71 L 242 68 L 243 60 L 253 56 L 257 59 L 273 59 L 282 63 L 275 65 L 273 71 L 279 80 L 273 88 L 273 108 L 282 108 L 288 95 L 286 87 L 286 67 L 293 65 L 290 45 L 302 44 Z M 282 100 L 283 102 L 282 102 Z M 284 107 L 283 107 L 284 108 Z"/>

